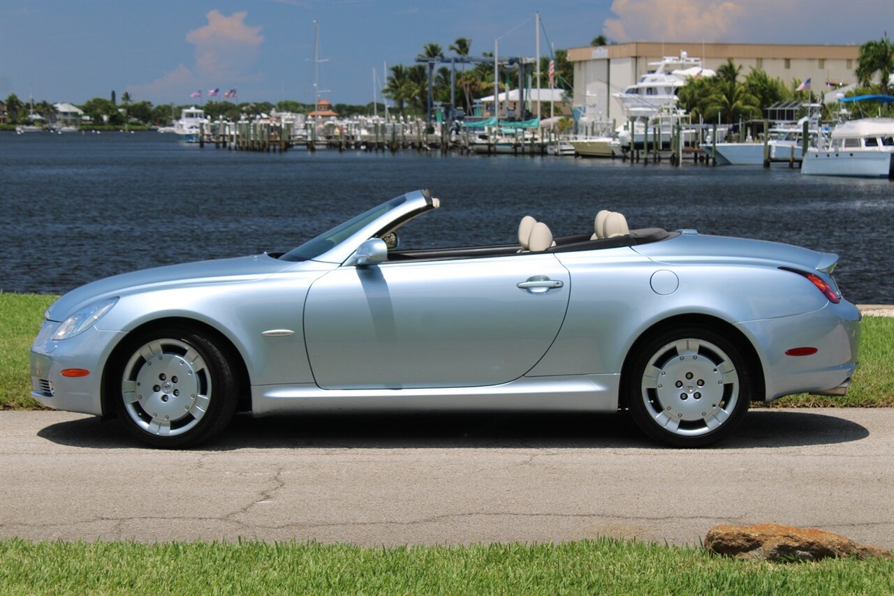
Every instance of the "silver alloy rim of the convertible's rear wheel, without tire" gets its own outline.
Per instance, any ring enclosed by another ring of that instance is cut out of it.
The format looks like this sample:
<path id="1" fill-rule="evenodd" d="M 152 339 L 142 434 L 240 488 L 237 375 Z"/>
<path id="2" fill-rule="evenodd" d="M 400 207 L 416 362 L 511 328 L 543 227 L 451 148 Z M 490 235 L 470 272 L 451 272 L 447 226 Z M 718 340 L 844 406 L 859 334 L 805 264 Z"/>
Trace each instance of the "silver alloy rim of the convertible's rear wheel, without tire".
<path id="1" fill-rule="evenodd" d="M 738 373 L 710 341 L 687 338 L 658 349 L 645 365 L 640 395 L 654 423 L 684 437 L 713 432 L 739 399 Z"/>

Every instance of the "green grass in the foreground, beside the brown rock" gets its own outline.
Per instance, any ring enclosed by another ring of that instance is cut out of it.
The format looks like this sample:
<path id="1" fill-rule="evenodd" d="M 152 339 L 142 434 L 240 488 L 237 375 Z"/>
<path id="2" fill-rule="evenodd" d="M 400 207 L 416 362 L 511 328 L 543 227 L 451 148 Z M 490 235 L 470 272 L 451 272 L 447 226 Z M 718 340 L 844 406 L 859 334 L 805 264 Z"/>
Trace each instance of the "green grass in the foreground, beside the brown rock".
<path id="1" fill-rule="evenodd" d="M 0 541 L 10 594 L 890 594 L 891 559 L 774 564 L 595 541 L 370 549 L 318 543 Z"/>

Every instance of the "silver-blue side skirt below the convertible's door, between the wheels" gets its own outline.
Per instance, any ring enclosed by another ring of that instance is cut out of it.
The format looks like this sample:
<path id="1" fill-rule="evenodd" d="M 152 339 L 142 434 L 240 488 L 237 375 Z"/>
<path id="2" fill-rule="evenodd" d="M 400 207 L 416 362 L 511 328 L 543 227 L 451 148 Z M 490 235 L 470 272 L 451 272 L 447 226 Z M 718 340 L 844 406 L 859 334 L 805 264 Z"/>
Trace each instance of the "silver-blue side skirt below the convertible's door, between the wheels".
<path id="1" fill-rule="evenodd" d="M 325 390 L 315 384 L 254 385 L 254 416 L 306 411 L 615 412 L 620 374 L 521 377 L 488 387 Z"/>

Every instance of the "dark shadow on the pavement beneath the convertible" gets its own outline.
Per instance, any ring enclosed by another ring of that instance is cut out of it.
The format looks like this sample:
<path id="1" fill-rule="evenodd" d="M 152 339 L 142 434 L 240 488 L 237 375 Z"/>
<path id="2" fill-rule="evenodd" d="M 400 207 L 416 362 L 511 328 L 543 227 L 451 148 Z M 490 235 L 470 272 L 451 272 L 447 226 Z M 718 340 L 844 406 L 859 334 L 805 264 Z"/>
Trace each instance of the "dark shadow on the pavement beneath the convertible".
<path id="1" fill-rule="evenodd" d="M 132 449 L 141 444 L 122 424 L 83 418 L 51 424 L 38 436 L 91 449 Z M 753 410 L 738 431 L 713 449 L 798 447 L 859 441 L 860 424 L 807 412 Z M 618 415 L 512 414 L 306 414 L 236 416 L 230 427 L 196 450 L 232 449 L 650 449 L 658 447 L 627 413 Z"/>

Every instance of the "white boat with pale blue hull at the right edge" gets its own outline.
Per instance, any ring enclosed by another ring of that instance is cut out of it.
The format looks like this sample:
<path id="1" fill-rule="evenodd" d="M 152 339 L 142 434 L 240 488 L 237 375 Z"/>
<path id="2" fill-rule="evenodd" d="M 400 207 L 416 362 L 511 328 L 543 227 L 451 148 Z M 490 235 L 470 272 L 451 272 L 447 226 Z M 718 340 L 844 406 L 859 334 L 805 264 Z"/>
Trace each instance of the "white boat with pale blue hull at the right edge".
<path id="1" fill-rule="evenodd" d="M 894 118 L 841 122 L 822 147 L 809 147 L 801 173 L 894 178 Z"/>

